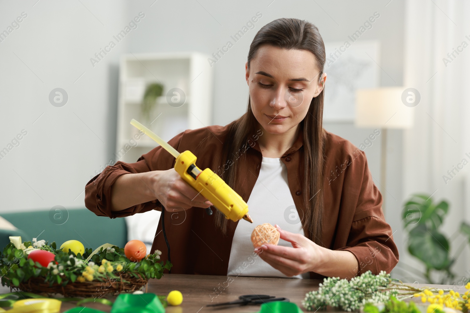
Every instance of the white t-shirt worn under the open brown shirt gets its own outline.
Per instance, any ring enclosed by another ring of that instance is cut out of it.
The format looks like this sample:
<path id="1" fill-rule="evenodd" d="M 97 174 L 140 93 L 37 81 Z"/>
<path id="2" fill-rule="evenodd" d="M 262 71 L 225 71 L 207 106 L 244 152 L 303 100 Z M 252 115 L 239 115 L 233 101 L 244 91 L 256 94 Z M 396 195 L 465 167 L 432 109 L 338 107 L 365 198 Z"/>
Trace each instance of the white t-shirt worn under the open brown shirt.
<path id="1" fill-rule="evenodd" d="M 251 232 L 256 225 L 263 223 L 270 223 L 273 226 L 277 224 L 283 230 L 305 236 L 294 199 L 290 194 L 287 168 L 281 159 L 263 157 L 258 180 L 248 199 L 248 208 L 253 224 L 244 220 L 238 222 L 227 275 L 288 277 L 261 259 L 254 252 L 251 243 Z M 279 239 L 278 245 L 292 247 L 290 242 L 282 239 Z M 310 275 L 307 272 L 291 278 L 310 278 Z"/>

